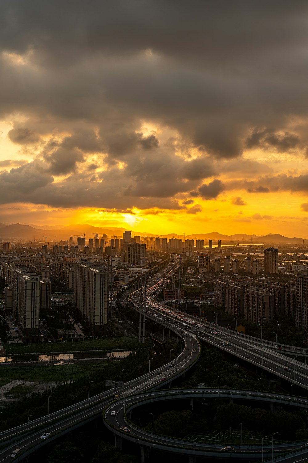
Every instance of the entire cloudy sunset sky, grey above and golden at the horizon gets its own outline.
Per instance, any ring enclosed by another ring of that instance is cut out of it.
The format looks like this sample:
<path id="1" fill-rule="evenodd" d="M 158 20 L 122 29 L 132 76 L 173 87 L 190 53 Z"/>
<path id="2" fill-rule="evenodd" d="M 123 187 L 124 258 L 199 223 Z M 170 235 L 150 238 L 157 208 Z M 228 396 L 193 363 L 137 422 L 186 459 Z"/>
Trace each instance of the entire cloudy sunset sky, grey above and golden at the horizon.
<path id="1" fill-rule="evenodd" d="M 308 2 L 0 2 L 0 222 L 308 238 Z"/>

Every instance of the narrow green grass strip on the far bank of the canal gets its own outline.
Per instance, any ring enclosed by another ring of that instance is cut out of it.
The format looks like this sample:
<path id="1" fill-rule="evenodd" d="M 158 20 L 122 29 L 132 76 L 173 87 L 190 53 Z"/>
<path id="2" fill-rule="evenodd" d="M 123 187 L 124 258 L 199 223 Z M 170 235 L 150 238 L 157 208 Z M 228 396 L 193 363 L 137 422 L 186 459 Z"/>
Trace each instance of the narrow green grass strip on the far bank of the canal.
<path id="1" fill-rule="evenodd" d="M 10 354 L 51 354 L 62 352 L 78 352 L 81 350 L 129 350 L 138 346 L 136 338 L 90 339 L 67 343 L 40 344 L 4 344 L 6 355 Z M 148 345 L 152 345 L 148 343 Z"/>

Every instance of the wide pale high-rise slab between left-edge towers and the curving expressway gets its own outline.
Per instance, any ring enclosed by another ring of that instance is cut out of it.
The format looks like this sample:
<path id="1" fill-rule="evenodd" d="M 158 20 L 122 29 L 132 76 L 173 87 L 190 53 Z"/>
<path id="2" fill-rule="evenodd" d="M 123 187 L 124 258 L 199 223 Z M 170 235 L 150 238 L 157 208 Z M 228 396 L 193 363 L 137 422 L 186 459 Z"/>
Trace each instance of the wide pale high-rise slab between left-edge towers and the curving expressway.
<path id="1" fill-rule="evenodd" d="M 75 264 L 75 305 L 80 319 L 93 333 L 107 334 L 107 269 L 87 261 Z"/>

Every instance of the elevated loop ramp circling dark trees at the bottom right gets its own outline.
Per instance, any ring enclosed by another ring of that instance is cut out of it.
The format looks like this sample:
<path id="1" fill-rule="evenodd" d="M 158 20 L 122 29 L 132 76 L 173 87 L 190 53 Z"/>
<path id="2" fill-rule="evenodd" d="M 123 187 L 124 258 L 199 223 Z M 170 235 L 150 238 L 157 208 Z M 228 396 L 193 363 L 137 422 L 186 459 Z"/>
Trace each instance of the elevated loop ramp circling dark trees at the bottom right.
<path id="1" fill-rule="evenodd" d="M 134 394 L 133 396 L 127 397 L 126 400 L 121 398 L 120 401 L 117 401 L 106 407 L 104 412 L 105 424 L 112 432 L 115 433 L 116 442 L 119 447 L 121 447 L 123 438 L 130 440 L 135 444 L 139 444 L 141 448 L 143 447 L 142 460 L 144 460 L 145 455 L 148 455 L 149 448 L 153 445 L 155 445 L 156 450 L 162 450 L 164 452 L 172 452 L 181 455 L 185 454 L 190 457 L 192 462 L 195 461 L 196 457 L 211 457 L 218 459 L 230 458 L 235 460 L 239 458 L 246 458 L 249 460 L 260 460 L 262 457 L 262 447 L 264 458 L 272 457 L 272 453 L 274 456 L 276 456 L 281 455 L 284 452 L 292 452 L 292 456 L 288 456 L 288 458 L 297 458 L 298 455 L 308 457 L 308 448 L 301 449 L 301 445 L 306 444 L 306 441 L 302 443 L 297 442 L 284 444 L 278 444 L 275 442 L 273 447 L 272 444 L 264 444 L 262 446 L 260 442 L 254 445 L 234 445 L 234 451 L 228 452 L 221 450 L 222 444 L 202 443 L 202 439 L 199 439 L 198 441 L 189 441 L 159 436 L 154 432 L 149 433 L 144 429 L 134 425 L 130 420 L 131 413 L 134 408 L 141 407 L 146 404 L 152 404 L 152 409 L 155 410 L 155 403 L 157 402 L 169 402 L 170 400 L 179 399 L 188 400 L 190 401 L 190 404 L 193 405 L 194 398 L 220 398 L 231 401 L 260 401 L 267 402 L 269 405 L 277 404 L 279 406 L 290 406 L 292 401 L 292 406 L 308 410 L 308 399 L 290 399 L 289 396 L 283 394 L 270 394 L 264 392 L 231 389 L 169 389 L 159 390 L 155 393 L 153 393 L 153 391 L 147 391 L 143 394 Z M 114 416 L 111 416 L 111 411 L 115 412 Z M 122 432 L 120 429 L 121 427 L 128 427 L 130 432 Z"/>

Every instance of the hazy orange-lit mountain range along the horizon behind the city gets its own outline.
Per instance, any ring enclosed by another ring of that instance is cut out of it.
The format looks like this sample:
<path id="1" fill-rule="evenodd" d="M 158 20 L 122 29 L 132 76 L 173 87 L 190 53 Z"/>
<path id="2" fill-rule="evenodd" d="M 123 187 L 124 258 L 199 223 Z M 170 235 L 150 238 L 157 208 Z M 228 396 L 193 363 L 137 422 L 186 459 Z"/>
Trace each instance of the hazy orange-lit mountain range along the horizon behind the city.
<path id="1" fill-rule="evenodd" d="M 106 234 L 110 237 L 114 235 L 117 238 L 122 238 L 123 232 L 127 229 L 122 227 L 96 227 L 89 224 L 73 224 L 68 226 L 59 226 L 59 225 L 46 225 L 46 226 L 38 226 L 33 224 L 11 224 L 6 225 L 0 223 L 0 238 L 7 239 L 7 240 L 33 240 L 35 238 L 36 242 L 43 242 L 44 239 L 46 241 L 60 241 L 60 240 L 68 240 L 70 236 L 73 238 L 81 236 L 85 234 L 87 239 L 93 238 L 93 235 L 97 233 L 100 237 L 103 234 Z M 53 235 L 47 235 L 47 233 L 53 233 Z M 134 232 L 132 231 L 132 236 L 149 236 L 155 237 L 150 232 Z M 183 235 L 179 235 L 176 233 L 169 233 L 166 235 L 159 235 L 160 238 L 177 238 L 177 239 L 184 239 Z M 46 237 L 46 238 L 45 238 Z M 52 239 L 48 239 L 52 238 Z M 223 235 L 218 232 L 210 232 L 210 233 L 197 233 L 185 236 L 185 239 L 203 239 L 205 244 L 208 243 L 208 240 L 211 239 L 213 242 L 217 242 L 220 239 L 222 242 L 232 242 L 233 243 L 252 243 L 252 244 L 302 244 L 308 243 L 308 240 L 305 238 L 290 238 L 285 237 L 280 234 L 272 234 L 269 233 L 267 235 L 247 235 L 244 233 L 236 233 L 235 235 Z"/>

